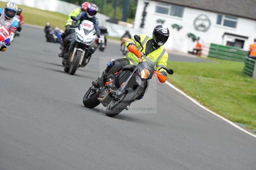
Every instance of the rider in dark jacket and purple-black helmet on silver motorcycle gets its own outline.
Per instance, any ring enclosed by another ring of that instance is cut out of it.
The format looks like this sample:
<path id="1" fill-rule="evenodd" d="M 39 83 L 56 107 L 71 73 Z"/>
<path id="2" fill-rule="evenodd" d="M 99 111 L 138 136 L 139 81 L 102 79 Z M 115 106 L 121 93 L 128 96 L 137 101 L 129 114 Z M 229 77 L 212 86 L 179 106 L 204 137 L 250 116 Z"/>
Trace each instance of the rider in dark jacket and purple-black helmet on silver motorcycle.
<path id="1" fill-rule="evenodd" d="M 98 18 L 95 17 L 96 13 L 98 12 L 99 8 L 97 5 L 95 4 L 89 4 L 87 6 L 86 12 L 81 12 L 78 17 L 77 20 L 89 20 L 91 22 L 93 22 L 94 24 L 94 28 L 97 32 L 97 36 L 100 37 L 100 27 L 99 27 L 99 21 Z M 72 27 L 75 27 L 77 24 L 77 21 L 73 21 L 72 22 Z M 59 54 L 59 57 L 63 58 L 64 55 L 64 51 L 65 51 L 65 47 L 68 45 L 69 40 L 72 38 L 72 36 L 74 35 L 74 33 L 68 35 L 66 38 L 63 39 L 63 43 L 62 43 L 62 50 Z M 89 53 L 89 55 L 92 55 L 92 53 L 94 52 L 94 48 L 91 48 L 91 53 Z M 90 57 L 90 56 L 86 56 L 86 57 Z"/>

